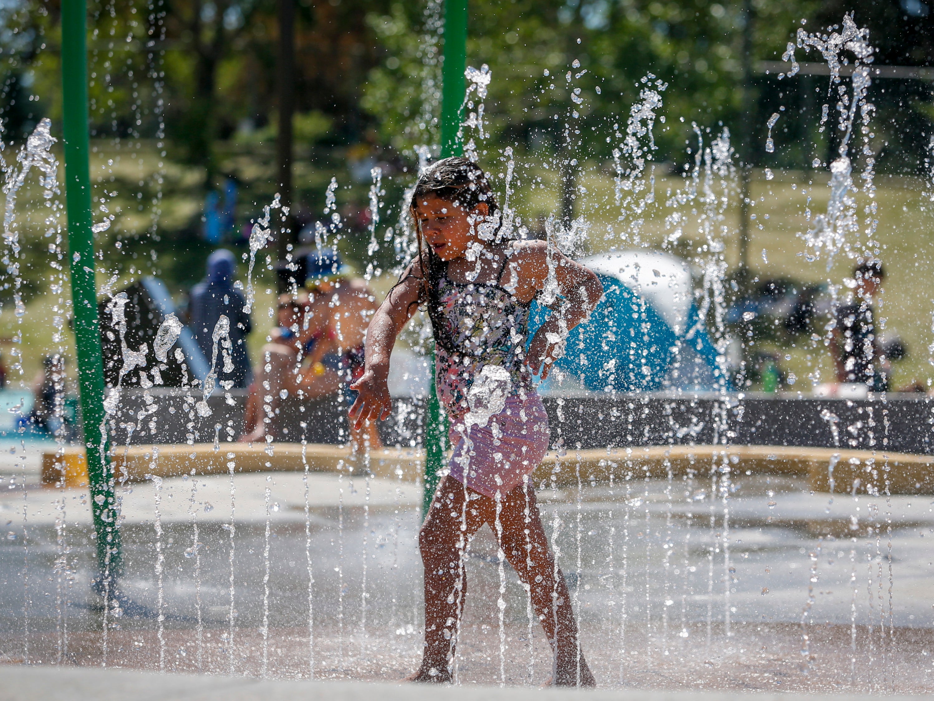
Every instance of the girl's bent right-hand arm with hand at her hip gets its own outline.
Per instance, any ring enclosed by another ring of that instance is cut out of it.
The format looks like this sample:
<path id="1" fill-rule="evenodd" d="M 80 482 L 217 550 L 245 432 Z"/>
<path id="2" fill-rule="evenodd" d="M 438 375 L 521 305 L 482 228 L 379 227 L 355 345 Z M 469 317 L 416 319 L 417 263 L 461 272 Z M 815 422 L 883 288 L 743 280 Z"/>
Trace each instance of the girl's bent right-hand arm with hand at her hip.
<path id="1" fill-rule="evenodd" d="M 550 305 L 551 315 L 535 332 L 529 345 L 526 364 L 544 380 L 551 372 L 552 363 L 564 355 L 568 332 L 586 319 L 601 301 L 603 286 L 593 271 L 544 241 L 521 245 L 514 262 L 509 264 L 509 273 L 503 277 L 507 283 L 515 281 L 520 299 L 531 300 L 539 290 L 551 286 L 557 286 L 555 291 L 563 298 Z"/>

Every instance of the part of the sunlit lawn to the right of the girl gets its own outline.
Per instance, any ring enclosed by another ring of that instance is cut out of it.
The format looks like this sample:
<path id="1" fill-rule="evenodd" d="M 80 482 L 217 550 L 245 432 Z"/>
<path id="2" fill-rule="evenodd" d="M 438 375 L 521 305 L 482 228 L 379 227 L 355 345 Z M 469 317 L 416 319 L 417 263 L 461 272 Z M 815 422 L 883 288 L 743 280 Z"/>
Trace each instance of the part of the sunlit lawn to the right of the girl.
<path id="1" fill-rule="evenodd" d="M 523 189 L 520 185 L 516 196 L 517 209 L 530 220 L 555 212 L 557 203 L 557 178 L 542 170 L 535 171 L 534 176 L 543 178 L 545 189 Z M 578 196 L 575 211 L 584 214 L 590 224 L 589 252 L 641 245 L 661 247 L 672 231 L 665 223 L 665 217 L 672 213 L 672 208 L 665 203 L 677 189 L 685 187 L 685 181 L 672 177 L 667 168 L 661 167 L 657 168 L 655 180 L 657 206 L 646 210 L 644 225 L 635 235 L 629 220 L 618 221 L 612 176 L 605 169 L 587 169 L 586 175 L 578 181 L 578 185 L 587 191 Z M 934 315 L 934 285 L 931 284 L 934 208 L 930 205 L 927 211 L 923 208 L 925 184 L 920 178 L 878 175 L 875 184 L 879 224 L 874 238 L 881 244 L 880 258 L 887 272 L 882 301 L 877 305 L 877 317 L 884 318 L 885 329 L 899 335 L 908 347 L 908 357 L 894 364 L 892 386 L 907 386 L 915 381 L 927 384 L 928 378 L 934 376 L 934 368 L 929 362 L 931 353 L 927 349 L 934 342 L 931 332 Z M 756 200 L 752 207 L 756 219 L 749 229 L 748 264 L 760 280 L 790 278 L 802 283 L 830 280 L 841 285 L 844 277 L 852 275 L 855 261 L 843 253 L 838 254 L 829 271 L 826 258 L 809 262 L 802 255 L 806 246 L 800 232 L 807 231 L 809 224 L 804 212 L 808 206 L 814 214 L 827 211 L 828 175 L 776 172 L 773 179 L 767 180 L 762 172 L 757 172 L 753 177 L 752 196 Z M 810 204 L 807 202 L 809 196 L 812 198 Z M 862 209 L 868 200 L 860 194 L 857 202 L 860 217 L 865 218 Z M 708 254 L 697 250 L 705 243 L 697 215 L 686 209 L 682 212 L 688 220 L 684 224 L 684 235 L 673 251 L 684 257 L 696 255 L 704 259 Z M 722 222 L 727 231 L 723 237 L 724 255 L 730 269 L 739 261 L 739 222 L 739 196 L 733 192 Z M 613 231 L 609 238 L 606 235 L 608 229 Z M 861 248 L 861 245 L 854 247 Z M 701 274 L 699 268 L 696 268 L 696 273 Z M 810 340 L 802 338 L 796 345 L 798 347 L 778 348 L 773 343 L 764 343 L 761 349 L 780 350 L 789 356 L 783 362 L 783 368 L 799 378 L 806 378 L 811 372 L 818 372 L 824 381 L 832 378 L 832 363 L 822 342 L 814 348 Z M 799 383 L 796 389 L 806 391 L 810 389 L 810 383 Z"/>

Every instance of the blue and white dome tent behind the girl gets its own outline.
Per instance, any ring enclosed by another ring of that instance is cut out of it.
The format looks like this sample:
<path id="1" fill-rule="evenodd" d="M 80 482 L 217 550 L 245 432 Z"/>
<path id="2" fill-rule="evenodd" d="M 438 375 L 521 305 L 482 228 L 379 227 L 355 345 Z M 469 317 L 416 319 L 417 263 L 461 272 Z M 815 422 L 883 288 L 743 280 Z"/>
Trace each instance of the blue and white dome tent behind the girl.
<path id="1" fill-rule="evenodd" d="M 583 259 L 598 274 L 604 299 L 587 323 L 568 336 L 556 366 L 541 389 L 567 392 L 658 390 L 711 391 L 724 381 L 716 349 L 694 305 L 694 286 L 685 261 L 653 250 L 623 251 Z M 535 304 L 531 331 L 547 318 Z"/>

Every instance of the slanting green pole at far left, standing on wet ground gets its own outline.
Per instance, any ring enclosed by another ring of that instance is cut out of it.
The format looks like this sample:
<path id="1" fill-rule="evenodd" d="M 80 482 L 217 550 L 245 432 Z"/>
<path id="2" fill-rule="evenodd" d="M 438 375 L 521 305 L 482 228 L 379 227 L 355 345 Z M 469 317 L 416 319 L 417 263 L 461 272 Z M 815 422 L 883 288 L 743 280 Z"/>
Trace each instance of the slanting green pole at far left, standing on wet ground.
<path id="1" fill-rule="evenodd" d="M 98 585 L 112 594 L 120 574 L 120 530 L 117 527 L 114 480 L 104 424 L 104 364 L 94 285 L 94 240 L 91 230 L 91 172 L 88 161 L 88 56 L 86 0 L 62 1 L 62 95 L 65 203 L 71 295 L 78 346 L 78 387 L 87 449 L 91 511 L 97 537 Z"/>

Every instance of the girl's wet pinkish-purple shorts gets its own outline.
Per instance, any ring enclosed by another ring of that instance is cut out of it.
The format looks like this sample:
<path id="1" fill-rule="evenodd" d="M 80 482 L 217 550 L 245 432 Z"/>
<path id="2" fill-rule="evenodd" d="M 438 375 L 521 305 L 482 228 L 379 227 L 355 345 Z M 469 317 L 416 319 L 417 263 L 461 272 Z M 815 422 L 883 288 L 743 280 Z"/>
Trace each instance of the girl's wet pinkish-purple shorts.
<path id="1" fill-rule="evenodd" d="M 497 492 L 505 496 L 545 458 L 548 414 L 542 399 L 528 392 L 525 400 L 506 398 L 502 412 L 490 416 L 487 426 L 474 425 L 467 437 L 463 434 L 460 417 L 448 432 L 454 444 L 448 463 L 451 477 L 485 497 L 496 498 Z"/>

